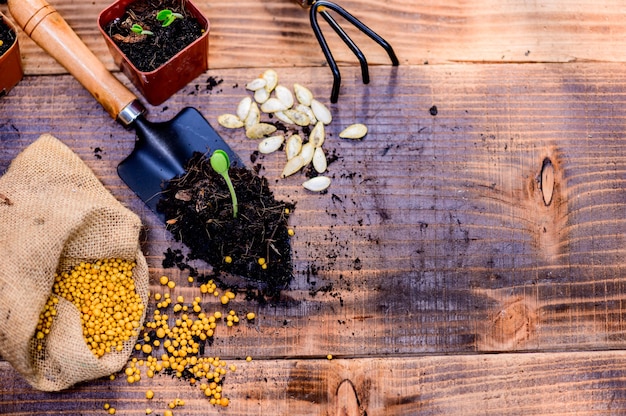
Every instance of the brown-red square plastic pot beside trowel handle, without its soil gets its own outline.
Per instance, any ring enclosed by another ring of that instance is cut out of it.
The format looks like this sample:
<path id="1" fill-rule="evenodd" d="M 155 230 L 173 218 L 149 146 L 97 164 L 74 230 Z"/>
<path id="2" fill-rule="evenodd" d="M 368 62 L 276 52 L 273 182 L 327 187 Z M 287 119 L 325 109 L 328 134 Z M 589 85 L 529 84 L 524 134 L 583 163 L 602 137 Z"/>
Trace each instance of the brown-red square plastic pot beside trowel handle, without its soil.
<path id="1" fill-rule="evenodd" d="M 189 0 L 185 8 L 204 28 L 204 33 L 165 64 L 151 72 L 143 72 L 124 55 L 104 28 L 121 17 L 126 8 L 137 0 L 118 0 L 104 9 L 98 17 L 98 27 L 113 60 L 152 105 L 159 105 L 209 68 L 209 20 Z"/>

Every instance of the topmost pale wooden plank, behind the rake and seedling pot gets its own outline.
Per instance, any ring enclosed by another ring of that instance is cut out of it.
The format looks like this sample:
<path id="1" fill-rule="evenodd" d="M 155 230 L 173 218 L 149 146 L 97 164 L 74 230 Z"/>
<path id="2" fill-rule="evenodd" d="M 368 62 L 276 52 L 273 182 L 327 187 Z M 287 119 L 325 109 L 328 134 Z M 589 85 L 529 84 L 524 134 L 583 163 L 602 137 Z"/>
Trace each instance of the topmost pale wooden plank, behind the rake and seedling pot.
<path id="1" fill-rule="evenodd" d="M 110 0 L 51 2 L 109 69 L 114 69 L 97 27 Z M 404 65 L 425 62 L 623 62 L 626 28 L 620 0 L 521 0 L 407 2 L 343 0 L 338 2 L 395 48 Z M 209 66 L 212 69 L 309 67 L 326 65 L 308 12 L 295 2 L 198 0 L 211 21 Z M 7 6 L 0 5 L 6 12 Z M 322 20 L 321 26 L 341 65 L 356 58 Z M 338 18 L 341 22 L 341 19 Z M 388 64 L 382 48 L 349 30 L 370 64 Z M 65 72 L 32 41 L 20 37 L 29 74 Z"/>

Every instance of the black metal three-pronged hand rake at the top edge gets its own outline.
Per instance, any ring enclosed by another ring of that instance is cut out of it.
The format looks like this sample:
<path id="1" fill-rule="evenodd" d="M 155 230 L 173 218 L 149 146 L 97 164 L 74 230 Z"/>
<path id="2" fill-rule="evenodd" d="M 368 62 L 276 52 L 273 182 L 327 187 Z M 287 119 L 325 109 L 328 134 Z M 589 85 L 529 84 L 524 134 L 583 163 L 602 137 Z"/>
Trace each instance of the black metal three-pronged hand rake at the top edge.
<path id="1" fill-rule="evenodd" d="M 361 64 L 361 76 L 363 77 L 363 83 L 369 83 L 369 70 L 367 67 L 367 60 L 365 59 L 365 55 L 359 49 L 359 47 L 350 39 L 350 36 L 342 29 L 342 27 L 337 23 L 337 21 L 328 13 L 328 10 L 332 10 L 361 32 L 365 33 L 374 42 L 378 43 L 380 46 L 385 49 L 389 58 L 391 59 L 391 63 L 394 66 L 399 65 L 398 58 L 396 57 L 393 48 L 385 39 L 380 37 L 376 32 L 363 24 L 356 17 L 352 16 L 345 9 L 338 6 L 337 4 L 326 1 L 326 0 L 294 0 L 303 8 L 309 9 L 309 17 L 311 19 L 311 28 L 313 29 L 313 33 L 315 33 L 315 37 L 322 47 L 322 52 L 324 52 L 324 56 L 326 57 L 326 61 L 328 62 L 328 66 L 333 73 L 333 89 L 330 95 L 330 101 L 332 103 L 336 103 L 339 98 L 339 87 L 341 85 L 341 73 L 339 72 L 339 67 L 335 62 L 335 58 L 333 58 L 333 54 L 326 43 L 326 39 L 324 39 L 324 35 L 322 34 L 322 30 L 320 29 L 319 23 L 317 21 L 318 13 L 326 20 L 326 22 L 330 25 L 330 27 L 337 33 L 337 35 L 344 41 L 344 43 L 350 48 L 352 53 L 354 53 Z"/>

